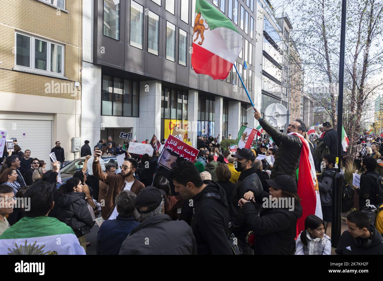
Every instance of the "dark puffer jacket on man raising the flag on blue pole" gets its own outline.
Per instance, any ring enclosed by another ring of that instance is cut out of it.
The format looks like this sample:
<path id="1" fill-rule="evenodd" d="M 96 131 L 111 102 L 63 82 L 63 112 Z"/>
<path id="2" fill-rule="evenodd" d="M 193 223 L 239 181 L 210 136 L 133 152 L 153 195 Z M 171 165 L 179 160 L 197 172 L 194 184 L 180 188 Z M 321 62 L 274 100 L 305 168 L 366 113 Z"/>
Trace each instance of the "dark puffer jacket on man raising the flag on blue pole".
<path id="1" fill-rule="evenodd" d="M 291 177 L 296 179 L 296 169 L 299 167 L 302 150 L 300 138 L 279 132 L 263 118 L 259 120 L 259 124 L 278 146 L 270 178 L 275 179 L 278 175 L 291 175 Z"/>

